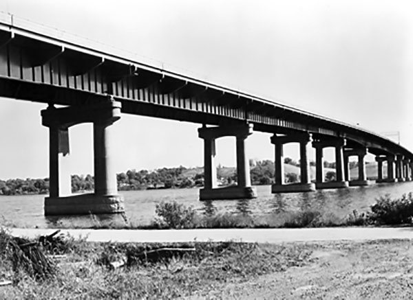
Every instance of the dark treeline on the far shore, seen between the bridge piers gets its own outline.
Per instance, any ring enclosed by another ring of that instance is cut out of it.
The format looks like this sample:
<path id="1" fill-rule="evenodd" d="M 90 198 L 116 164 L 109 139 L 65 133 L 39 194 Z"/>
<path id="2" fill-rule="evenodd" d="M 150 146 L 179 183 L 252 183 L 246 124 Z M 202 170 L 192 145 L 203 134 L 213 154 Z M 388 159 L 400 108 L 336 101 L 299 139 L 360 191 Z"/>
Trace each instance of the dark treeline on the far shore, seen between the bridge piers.
<path id="1" fill-rule="evenodd" d="M 299 166 L 299 162 L 286 157 L 284 163 Z M 312 162 L 311 165 L 314 165 Z M 324 164 L 326 168 L 334 168 L 335 163 Z M 354 167 L 354 165 L 352 165 Z M 274 162 L 271 160 L 253 161 L 250 160 L 251 183 L 253 185 L 269 185 L 274 182 Z M 331 173 L 331 174 L 330 174 Z M 221 186 L 231 185 L 237 182 L 237 172 L 235 168 L 218 166 L 218 184 Z M 327 181 L 333 180 L 335 172 L 327 174 Z M 116 174 L 118 189 L 142 190 L 142 189 L 170 189 L 202 187 L 204 185 L 203 168 L 185 168 L 182 165 L 178 168 L 160 168 L 153 171 L 148 170 L 128 170 L 127 172 Z M 286 183 L 299 181 L 297 172 L 287 172 Z M 72 192 L 91 191 L 94 189 L 94 177 L 91 175 L 72 175 Z M 49 179 L 9 179 L 0 180 L 1 195 L 20 194 L 48 194 Z"/>

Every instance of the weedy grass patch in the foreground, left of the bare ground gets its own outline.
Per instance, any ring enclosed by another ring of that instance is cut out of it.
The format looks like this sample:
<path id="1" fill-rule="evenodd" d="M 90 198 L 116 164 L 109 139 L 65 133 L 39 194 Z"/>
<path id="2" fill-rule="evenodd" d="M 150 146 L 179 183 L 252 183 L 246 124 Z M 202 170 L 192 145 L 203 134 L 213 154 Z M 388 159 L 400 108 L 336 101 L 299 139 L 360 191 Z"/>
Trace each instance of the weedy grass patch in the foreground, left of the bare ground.
<path id="1" fill-rule="evenodd" d="M 136 253 L 162 246 L 191 246 L 195 251 L 156 262 L 132 259 Z M 171 299 L 207 295 L 228 283 L 302 266 L 310 255 L 302 245 L 114 244 L 82 240 L 70 240 L 70 246 L 61 253 L 67 255 L 65 262 L 56 264 L 54 277 L 42 281 L 24 269 L 13 270 L 3 257 L 0 279 L 12 279 L 14 272 L 22 275 L 12 286 L 0 288 L 0 299 Z M 105 262 L 124 256 L 127 266 L 107 268 Z"/>

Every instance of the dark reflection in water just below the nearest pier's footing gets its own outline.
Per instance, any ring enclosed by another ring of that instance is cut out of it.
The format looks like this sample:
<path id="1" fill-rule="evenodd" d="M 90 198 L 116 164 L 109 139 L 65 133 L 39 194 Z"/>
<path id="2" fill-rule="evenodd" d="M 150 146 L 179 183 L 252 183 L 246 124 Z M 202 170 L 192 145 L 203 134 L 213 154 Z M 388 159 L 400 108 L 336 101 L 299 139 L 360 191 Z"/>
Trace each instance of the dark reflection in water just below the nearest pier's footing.
<path id="1" fill-rule="evenodd" d="M 45 216 L 49 228 L 112 228 L 128 224 L 126 214 L 89 214 L 85 216 Z"/>

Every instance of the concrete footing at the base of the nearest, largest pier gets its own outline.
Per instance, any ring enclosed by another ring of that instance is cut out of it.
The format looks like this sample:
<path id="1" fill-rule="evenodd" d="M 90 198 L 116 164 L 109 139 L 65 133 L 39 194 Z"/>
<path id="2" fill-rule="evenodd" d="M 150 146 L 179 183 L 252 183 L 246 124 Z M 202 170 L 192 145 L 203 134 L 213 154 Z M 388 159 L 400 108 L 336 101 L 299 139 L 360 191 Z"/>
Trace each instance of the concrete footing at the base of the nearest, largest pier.
<path id="1" fill-rule="evenodd" d="M 67 197 L 46 197 L 45 216 L 117 214 L 125 212 L 123 196 L 81 194 Z"/>

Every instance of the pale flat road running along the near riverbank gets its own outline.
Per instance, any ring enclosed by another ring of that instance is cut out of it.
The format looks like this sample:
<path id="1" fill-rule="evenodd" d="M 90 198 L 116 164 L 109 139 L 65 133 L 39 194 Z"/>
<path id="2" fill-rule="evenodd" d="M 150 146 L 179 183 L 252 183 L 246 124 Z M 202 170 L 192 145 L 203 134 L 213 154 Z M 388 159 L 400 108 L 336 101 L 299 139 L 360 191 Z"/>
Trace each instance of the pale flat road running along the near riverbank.
<path id="1" fill-rule="evenodd" d="M 14 236 L 36 238 L 57 229 L 10 229 Z M 89 242 L 258 242 L 281 244 L 285 242 L 322 242 L 352 240 L 413 239 L 413 227 L 335 227 L 313 229 L 61 229 L 74 238 Z"/>

